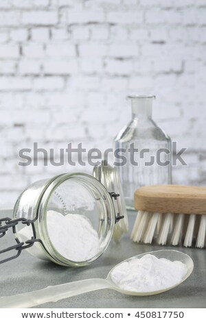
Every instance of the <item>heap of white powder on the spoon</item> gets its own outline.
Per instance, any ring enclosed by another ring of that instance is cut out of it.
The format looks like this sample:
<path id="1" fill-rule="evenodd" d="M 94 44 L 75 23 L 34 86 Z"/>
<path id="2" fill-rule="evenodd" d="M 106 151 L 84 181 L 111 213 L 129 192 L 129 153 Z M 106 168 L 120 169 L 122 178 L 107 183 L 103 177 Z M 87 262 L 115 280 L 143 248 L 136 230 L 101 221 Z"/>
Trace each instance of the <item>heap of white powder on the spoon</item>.
<path id="1" fill-rule="evenodd" d="M 154 292 L 178 284 L 186 273 L 183 262 L 147 254 L 119 264 L 111 272 L 111 278 L 123 290 Z"/>

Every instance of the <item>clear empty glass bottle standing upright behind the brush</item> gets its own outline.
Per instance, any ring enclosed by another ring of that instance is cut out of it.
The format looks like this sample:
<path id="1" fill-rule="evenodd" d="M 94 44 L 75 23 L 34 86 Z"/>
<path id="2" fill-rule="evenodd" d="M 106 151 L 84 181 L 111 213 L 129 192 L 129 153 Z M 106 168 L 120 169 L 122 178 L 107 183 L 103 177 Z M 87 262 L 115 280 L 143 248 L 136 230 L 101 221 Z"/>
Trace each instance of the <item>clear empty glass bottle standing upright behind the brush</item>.
<path id="1" fill-rule="evenodd" d="M 132 121 L 115 137 L 113 153 L 122 180 L 126 208 L 134 210 L 137 188 L 172 183 L 172 146 L 170 137 L 152 120 L 155 96 L 134 95 L 128 98 L 132 105 Z"/>

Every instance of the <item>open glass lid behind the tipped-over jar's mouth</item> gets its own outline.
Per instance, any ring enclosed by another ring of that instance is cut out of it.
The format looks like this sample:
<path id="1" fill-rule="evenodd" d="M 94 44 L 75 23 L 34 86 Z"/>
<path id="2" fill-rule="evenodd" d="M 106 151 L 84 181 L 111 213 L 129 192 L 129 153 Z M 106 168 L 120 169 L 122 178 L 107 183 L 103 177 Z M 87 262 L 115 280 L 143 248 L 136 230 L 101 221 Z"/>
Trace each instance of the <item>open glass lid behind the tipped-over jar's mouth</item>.
<path id="1" fill-rule="evenodd" d="M 118 216 L 124 216 L 124 218 L 117 221 L 114 227 L 113 240 L 117 242 L 122 234 L 128 232 L 128 216 L 119 173 L 117 168 L 109 165 L 106 160 L 102 160 L 99 166 L 94 166 L 93 176 L 105 186 L 109 193 L 119 195 L 115 203 L 116 218 Z"/>

